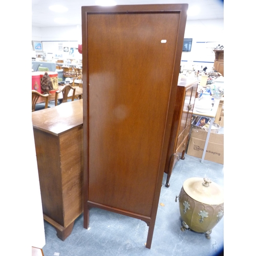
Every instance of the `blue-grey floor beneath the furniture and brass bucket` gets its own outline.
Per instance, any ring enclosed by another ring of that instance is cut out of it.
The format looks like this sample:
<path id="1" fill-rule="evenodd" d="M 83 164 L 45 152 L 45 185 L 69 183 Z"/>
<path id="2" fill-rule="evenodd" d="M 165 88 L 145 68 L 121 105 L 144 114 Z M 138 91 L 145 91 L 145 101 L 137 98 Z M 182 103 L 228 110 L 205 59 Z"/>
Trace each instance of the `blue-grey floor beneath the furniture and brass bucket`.
<path id="1" fill-rule="evenodd" d="M 183 182 L 191 177 L 207 177 L 224 186 L 222 164 L 185 155 L 177 162 L 165 187 L 163 176 L 151 249 L 145 247 L 148 227 L 145 222 L 98 208 L 90 210 L 90 228 L 83 228 L 83 216 L 76 219 L 71 235 L 61 241 L 56 230 L 45 221 L 45 256 L 215 256 L 223 255 L 224 217 L 212 229 L 210 239 L 204 233 L 181 231 L 179 196 Z M 142 181 L 143 183 L 143 181 Z M 164 204 L 161 206 L 160 203 Z"/>

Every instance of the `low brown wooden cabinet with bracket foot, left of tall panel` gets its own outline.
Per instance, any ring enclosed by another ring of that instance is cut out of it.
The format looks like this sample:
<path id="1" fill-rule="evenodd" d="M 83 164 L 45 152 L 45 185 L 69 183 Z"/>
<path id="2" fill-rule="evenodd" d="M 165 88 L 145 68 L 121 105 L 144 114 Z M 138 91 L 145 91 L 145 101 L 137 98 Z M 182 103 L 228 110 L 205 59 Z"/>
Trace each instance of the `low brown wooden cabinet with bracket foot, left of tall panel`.
<path id="1" fill-rule="evenodd" d="M 42 211 L 62 241 L 83 212 L 82 102 L 32 112 Z"/>

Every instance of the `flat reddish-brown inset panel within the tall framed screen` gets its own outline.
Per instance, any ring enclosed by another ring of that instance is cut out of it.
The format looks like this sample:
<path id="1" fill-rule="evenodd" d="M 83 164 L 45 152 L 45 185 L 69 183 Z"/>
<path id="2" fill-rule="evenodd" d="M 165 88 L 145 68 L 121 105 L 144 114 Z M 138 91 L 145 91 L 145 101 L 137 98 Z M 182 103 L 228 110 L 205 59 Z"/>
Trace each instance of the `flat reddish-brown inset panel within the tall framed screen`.
<path id="1" fill-rule="evenodd" d="M 178 14 L 88 18 L 89 201 L 151 216 L 178 22 Z"/>

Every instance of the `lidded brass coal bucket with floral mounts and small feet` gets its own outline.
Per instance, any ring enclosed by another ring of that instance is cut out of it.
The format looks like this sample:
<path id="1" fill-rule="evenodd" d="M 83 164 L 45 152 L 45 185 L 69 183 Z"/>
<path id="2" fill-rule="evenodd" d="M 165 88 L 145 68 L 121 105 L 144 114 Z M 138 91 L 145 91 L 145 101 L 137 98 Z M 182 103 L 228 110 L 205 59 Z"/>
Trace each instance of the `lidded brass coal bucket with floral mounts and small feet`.
<path id="1" fill-rule="evenodd" d="M 224 215 L 223 189 L 207 178 L 189 178 L 183 183 L 179 198 L 181 230 L 191 229 L 205 233 L 210 239 L 210 233 Z"/>

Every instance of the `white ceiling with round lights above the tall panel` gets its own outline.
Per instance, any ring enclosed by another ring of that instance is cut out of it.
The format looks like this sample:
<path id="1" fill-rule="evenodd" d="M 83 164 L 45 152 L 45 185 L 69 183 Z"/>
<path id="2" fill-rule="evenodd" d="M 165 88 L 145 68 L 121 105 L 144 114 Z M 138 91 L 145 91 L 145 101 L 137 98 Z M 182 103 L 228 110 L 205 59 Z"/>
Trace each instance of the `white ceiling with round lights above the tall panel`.
<path id="1" fill-rule="evenodd" d="M 187 20 L 219 19 L 224 18 L 224 0 L 115 0 L 117 5 L 145 5 L 145 4 L 188 4 L 188 11 L 200 7 L 197 15 L 187 15 Z M 54 13 L 49 9 L 51 5 L 66 6 L 66 13 Z M 81 7 L 95 6 L 95 0 L 32 0 L 32 26 L 33 27 L 58 27 L 81 25 Z M 68 19 L 66 24 L 57 24 L 54 18 Z"/>

